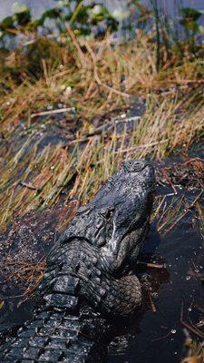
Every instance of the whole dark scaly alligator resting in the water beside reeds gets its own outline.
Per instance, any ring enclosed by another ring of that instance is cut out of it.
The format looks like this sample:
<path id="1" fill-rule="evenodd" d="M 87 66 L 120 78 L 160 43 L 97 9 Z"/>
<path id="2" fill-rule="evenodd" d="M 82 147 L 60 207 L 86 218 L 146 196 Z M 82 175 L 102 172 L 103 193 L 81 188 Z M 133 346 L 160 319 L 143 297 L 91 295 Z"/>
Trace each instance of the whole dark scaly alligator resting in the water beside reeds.
<path id="1" fill-rule="evenodd" d="M 149 229 L 150 162 L 123 162 L 53 246 L 34 318 L 4 348 L 2 362 L 103 361 L 109 321 L 141 308 L 134 270 Z"/>

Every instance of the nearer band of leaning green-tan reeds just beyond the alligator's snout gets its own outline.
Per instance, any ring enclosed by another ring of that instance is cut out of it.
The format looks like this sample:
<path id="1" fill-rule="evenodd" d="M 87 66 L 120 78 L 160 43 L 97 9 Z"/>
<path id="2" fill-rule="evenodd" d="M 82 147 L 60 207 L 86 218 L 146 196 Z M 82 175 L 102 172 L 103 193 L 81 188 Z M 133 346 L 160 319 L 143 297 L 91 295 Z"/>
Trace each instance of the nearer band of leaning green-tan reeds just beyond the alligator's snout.
<path id="1" fill-rule="evenodd" d="M 59 143 L 48 145 L 38 152 L 37 144 L 40 141 L 33 142 L 32 133 L 13 158 L 5 163 L 1 172 L 1 227 L 5 228 L 13 215 L 51 207 L 59 201 L 64 190 L 65 202 L 73 198 L 88 201 L 124 159 L 145 158 L 148 155 L 164 157 L 174 149 L 175 144 L 179 146 L 185 142 L 183 122 L 176 127 L 175 120 L 174 102 L 164 100 L 158 108 L 150 104 L 139 126 L 131 134 L 113 131 L 109 136 L 104 133 L 97 137 L 90 136 L 83 148 L 76 140 L 72 151 Z M 186 120 L 185 132 L 193 140 L 196 129 L 192 129 L 190 119 L 189 124 Z M 197 127 L 199 129 L 201 123 Z M 79 140 L 82 137 L 83 134 L 78 132 Z M 67 191 L 73 177 L 72 190 Z"/>

